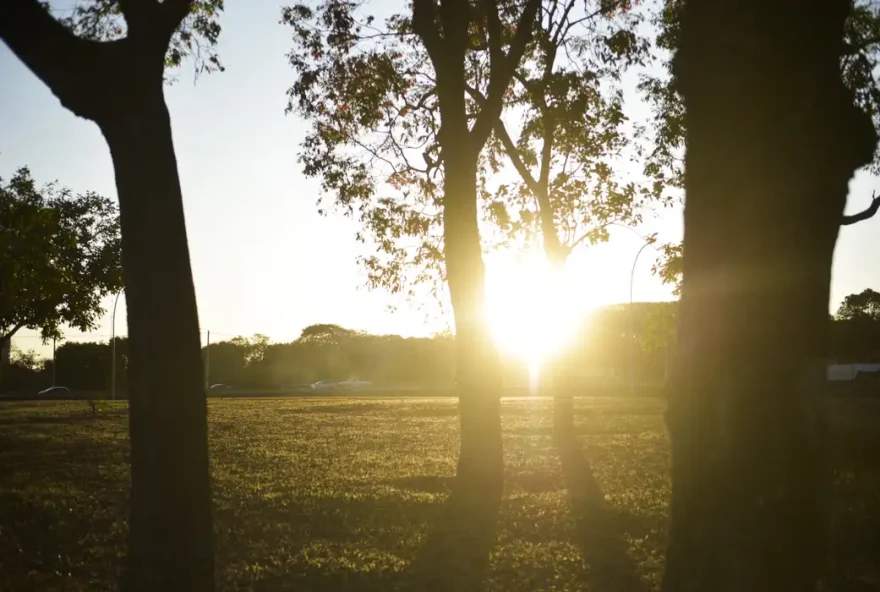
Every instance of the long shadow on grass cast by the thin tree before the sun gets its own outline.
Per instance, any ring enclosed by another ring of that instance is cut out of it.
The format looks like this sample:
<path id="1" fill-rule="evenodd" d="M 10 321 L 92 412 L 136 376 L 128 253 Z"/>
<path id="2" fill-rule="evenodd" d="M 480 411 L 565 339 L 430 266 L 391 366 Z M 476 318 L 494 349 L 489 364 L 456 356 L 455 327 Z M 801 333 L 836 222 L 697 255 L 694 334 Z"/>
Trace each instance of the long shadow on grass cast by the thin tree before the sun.
<path id="1" fill-rule="evenodd" d="M 623 538 L 632 515 L 608 507 L 574 433 L 557 432 L 554 441 L 568 488 L 576 542 L 589 565 L 588 588 L 599 592 L 647 592 Z"/>

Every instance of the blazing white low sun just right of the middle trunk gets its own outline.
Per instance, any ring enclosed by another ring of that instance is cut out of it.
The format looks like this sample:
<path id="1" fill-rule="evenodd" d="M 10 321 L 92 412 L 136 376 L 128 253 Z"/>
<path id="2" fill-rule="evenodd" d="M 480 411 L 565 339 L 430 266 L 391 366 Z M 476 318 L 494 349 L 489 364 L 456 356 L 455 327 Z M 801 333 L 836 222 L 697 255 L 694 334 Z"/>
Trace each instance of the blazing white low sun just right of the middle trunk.
<path id="1" fill-rule="evenodd" d="M 486 315 L 499 349 L 531 373 L 562 351 L 584 313 L 582 274 L 557 269 L 536 253 L 487 261 Z"/>

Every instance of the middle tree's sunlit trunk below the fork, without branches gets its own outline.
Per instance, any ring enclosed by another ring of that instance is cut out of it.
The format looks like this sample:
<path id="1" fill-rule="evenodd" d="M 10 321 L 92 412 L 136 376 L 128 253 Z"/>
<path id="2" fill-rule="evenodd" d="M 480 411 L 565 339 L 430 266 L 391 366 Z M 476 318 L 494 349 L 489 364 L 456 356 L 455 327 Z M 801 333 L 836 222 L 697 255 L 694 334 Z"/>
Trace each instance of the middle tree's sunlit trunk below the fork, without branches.
<path id="1" fill-rule="evenodd" d="M 444 166 L 444 249 L 446 278 L 455 313 L 456 377 L 461 414 L 458 478 L 468 487 L 500 494 L 504 482 L 501 374 L 497 348 L 486 322 L 486 274 L 477 224 L 476 162 L 467 154 L 449 155 Z"/>

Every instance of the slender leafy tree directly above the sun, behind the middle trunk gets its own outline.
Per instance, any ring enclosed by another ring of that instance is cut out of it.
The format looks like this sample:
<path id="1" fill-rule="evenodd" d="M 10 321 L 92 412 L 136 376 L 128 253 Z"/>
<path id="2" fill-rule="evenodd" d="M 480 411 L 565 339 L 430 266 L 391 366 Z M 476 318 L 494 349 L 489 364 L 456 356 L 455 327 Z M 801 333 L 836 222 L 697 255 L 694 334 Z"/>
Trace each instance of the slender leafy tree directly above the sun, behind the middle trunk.
<path id="1" fill-rule="evenodd" d="M 511 135 L 504 117 L 495 123 L 490 167 L 497 173 L 497 163 L 508 160 L 520 181 L 496 189 L 489 213 L 508 239 L 539 228 L 557 271 L 575 247 L 608 240 L 613 224 L 638 224 L 640 206 L 662 196 L 662 180 L 639 187 L 620 170 L 627 151 L 638 153 L 634 133 L 625 128 L 621 76 L 647 57 L 641 21 L 627 1 L 588 2 L 577 10 L 574 2 L 543 2 L 540 26 L 505 101 L 518 133 Z M 485 101 L 477 89 L 468 91 Z M 551 377 L 555 365 L 549 362 Z M 559 396 L 554 406 L 556 428 L 570 430 L 571 397 Z"/>

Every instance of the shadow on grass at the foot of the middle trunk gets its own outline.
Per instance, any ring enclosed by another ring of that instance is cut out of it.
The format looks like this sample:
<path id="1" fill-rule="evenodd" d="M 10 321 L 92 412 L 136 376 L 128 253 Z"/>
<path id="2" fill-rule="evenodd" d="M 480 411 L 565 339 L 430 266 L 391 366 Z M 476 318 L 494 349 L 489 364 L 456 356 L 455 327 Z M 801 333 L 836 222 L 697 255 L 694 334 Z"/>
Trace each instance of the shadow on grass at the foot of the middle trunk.
<path id="1" fill-rule="evenodd" d="M 456 479 L 437 522 L 404 577 L 409 590 L 483 589 L 501 497 Z"/>

